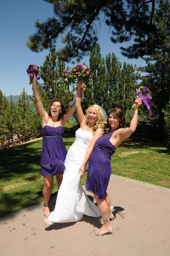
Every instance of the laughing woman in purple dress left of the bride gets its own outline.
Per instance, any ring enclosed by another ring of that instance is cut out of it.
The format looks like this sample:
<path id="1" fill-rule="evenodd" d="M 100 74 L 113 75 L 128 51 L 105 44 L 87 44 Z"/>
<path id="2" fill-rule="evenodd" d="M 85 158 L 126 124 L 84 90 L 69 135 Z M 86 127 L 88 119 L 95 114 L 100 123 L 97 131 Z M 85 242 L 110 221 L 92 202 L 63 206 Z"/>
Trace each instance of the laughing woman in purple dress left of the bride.
<path id="1" fill-rule="evenodd" d="M 48 202 L 56 176 L 58 189 L 63 179 L 65 170 L 66 148 L 63 142 L 65 122 L 67 122 L 76 111 L 76 102 L 73 103 L 69 111 L 65 111 L 64 103 L 55 99 L 52 101 L 49 113 L 44 110 L 37 88 L 36 75 L 32 80 L 32 88 L 37 103 L 37 111 L 42 118 L 42 154 L 41 172 L 44 181 L 43 200 L 44 216 L 49 216 Z M 82 92 L 83 93 L 83 92 Z"/>

